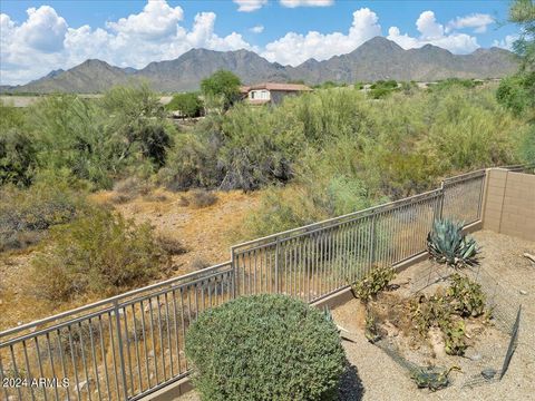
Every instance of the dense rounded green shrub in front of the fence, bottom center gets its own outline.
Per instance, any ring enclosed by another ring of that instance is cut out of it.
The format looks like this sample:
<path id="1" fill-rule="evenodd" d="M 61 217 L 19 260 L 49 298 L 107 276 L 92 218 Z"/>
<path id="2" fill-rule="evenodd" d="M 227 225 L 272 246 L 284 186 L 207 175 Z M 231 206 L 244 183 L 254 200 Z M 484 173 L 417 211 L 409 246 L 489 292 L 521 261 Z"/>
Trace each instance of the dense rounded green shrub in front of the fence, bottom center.
<path id="1" fill-rule="evenodd" d="M 332 400 L 344 368 L 337 326 L 272 294 L 202 313 L 186 333 L 186 355 L 205 400 Z"/>

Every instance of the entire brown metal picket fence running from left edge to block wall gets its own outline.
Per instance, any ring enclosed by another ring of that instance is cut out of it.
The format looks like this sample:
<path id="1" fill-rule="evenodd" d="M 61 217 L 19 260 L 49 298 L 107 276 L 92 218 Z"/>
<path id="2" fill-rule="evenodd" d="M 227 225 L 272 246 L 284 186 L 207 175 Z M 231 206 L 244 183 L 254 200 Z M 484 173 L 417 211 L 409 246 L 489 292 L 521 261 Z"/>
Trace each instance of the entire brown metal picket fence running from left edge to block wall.
<path id="1" fill-rule="evenodd" d="M 230 262 L 1 332 L 0 379 L 9 387 L 0 393 L 9 401 L 140 399 L 188 374 L 185 334 L 198 313 L 259 293 L 318 301 L 416 256 L 435 219 L 480 219 L 485 177 L 454 177 L 425 194 L 246 242 L 231 248 Z"/>

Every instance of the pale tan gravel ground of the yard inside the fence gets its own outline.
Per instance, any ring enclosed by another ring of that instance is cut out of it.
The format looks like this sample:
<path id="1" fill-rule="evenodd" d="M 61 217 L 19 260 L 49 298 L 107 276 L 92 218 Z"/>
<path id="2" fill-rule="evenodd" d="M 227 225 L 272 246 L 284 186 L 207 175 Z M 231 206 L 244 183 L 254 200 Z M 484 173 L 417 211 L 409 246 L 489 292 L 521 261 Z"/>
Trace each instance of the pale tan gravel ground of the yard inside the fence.
<path id="1" fill-rule="evenodd" d="M 447 389 L 437 392 L 416 389 L 405 369 L 367 341 L 354 316 L 359 301 L 353 300 L 332 311 L 337 323 L 351 332 L 354 340 L 343 342 L 350 369 L 342 381 L 341 400 L 535 400 L 535 265 L 522 256 L 525 252 L 535 254 L 535 243 L 486 231 L 474 237 L 483 247 L 481 268 L 500 278 L 503 296 L 523 305 L 518 348 L 504 379 L 467 389 L 460 388 L 468 379 L 466 374 L 451 372 L 454 385 Z M 429 262 L 411 266 L 398 280 L 416 276 L 428 266 Z M 192 391 L 179 400 L 201 399 Z"/>

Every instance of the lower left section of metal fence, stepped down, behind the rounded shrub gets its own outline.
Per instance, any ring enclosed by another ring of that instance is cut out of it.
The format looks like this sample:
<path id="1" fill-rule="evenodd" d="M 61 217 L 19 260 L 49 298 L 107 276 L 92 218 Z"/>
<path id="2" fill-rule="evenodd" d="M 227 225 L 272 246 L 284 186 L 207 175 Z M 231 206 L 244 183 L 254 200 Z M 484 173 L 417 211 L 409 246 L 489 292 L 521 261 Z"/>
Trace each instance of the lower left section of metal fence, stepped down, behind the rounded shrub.
<path id="1" fill-rule="evenodd" d="M 9 401 L 139 399 L 188 373 L 188 325 L 233 286 L 226 262 L 2 332 L 0 391 Z"/>

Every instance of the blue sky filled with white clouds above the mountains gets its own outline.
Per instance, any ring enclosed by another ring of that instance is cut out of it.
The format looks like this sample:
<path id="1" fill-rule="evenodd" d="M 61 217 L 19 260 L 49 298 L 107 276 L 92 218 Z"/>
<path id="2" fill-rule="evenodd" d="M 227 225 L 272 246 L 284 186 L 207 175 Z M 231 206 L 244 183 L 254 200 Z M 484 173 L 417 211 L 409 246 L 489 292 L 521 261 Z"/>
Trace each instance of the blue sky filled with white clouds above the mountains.
<path id="1" fill-rule="evenodd" d="M 20 85 L 86 59 L 143 68 L 192 48 L 247 49 L 298 66 L 383 36 L 405 49 L 509 49 L 507 0 L 0 1 L 0 85 Z"/>

